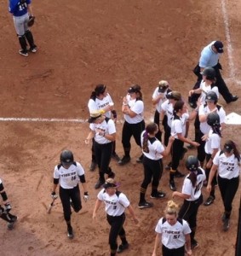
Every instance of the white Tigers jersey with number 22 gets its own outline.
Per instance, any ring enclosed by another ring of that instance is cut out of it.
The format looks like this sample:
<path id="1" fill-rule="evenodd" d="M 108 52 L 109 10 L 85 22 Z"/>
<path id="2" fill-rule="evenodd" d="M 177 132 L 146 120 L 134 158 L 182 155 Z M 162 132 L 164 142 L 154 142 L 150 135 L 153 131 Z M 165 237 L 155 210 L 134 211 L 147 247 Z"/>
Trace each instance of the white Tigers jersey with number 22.
<path id="1" fill-rule="evenodd" d="M 227 157 L 224 153 L 219 151 L 215 154 L 213 163 L 215 166 L 218 166 L 218 175 L 220 177 L 231 179 L 239 176 L 240 166 L 238 166 L 238 159 L 234 154 Z"/>

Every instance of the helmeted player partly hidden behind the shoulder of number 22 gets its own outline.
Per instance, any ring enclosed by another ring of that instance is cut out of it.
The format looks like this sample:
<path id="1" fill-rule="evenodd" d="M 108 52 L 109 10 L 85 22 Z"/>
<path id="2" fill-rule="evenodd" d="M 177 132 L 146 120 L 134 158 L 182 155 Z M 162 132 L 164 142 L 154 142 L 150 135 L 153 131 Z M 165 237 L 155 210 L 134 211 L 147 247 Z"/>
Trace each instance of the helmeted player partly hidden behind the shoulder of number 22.
<path id="1" fill-rule="evenodd" d="M 207 180 L 209 179 L 209 172 L 213 164 L 212 160 L 215 158 L 215 154 L 221 148 L 221 125 L 220 118 L 218 113 L 209 113 L 207 117 L 207 124 L 210 125 L 211 129 L 207 136 L 204 136 L 203 139 L 205 143 L 205 153 L 206 153 L 206 168 L 205 173 Z M 213 178 L 212 189 L 210 191 L 209 197 L 204 201 L 204 206 L 209 206 L 215 201 L 215 184 L 216 178 Z"/>

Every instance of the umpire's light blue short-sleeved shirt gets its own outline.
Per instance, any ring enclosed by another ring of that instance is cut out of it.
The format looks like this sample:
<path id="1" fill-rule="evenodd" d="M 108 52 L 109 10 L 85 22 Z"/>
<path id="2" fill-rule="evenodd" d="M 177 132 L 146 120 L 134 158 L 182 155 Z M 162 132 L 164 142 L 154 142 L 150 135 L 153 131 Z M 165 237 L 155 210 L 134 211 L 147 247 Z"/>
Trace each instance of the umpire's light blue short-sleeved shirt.
<path id="1" fill-rule="evenodd" d="M 199 67 L 215 67 L 217 65 L 220 54 L 213 51 L 211 47 L 213 44 L 215 44 L 215 41 L 205 46 L 202 50 L 199 59 Z"/>

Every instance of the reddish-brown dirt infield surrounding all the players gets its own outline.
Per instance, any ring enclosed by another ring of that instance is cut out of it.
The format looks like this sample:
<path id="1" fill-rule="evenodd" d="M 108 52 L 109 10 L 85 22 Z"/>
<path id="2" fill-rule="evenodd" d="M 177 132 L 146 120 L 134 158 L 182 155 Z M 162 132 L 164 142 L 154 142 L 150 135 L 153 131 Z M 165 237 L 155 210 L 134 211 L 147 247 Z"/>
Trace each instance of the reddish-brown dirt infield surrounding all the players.
<path id="1" fill-rule="evenodd" d="M 90 148 L 83 143 L 89 125 L 51 119 L 87 119 L 90 92 L 95 84 L 104 83 L 121 120 L 122 97 L 130 84 L 137 83 L 144 93 L 147 122 L 153 115 L 152 92 L 158 81 L 168 80 L 172 89 L 180 90 L 187 98 L 187 91 L 195 83 L 192 68 L 200 50 L 215 39 L 223 41 L 226 47 L 221 58 L 223 77 L 232 93 L 241 97 L 241 2 L 33 0 L 37 18 L 32 32 L 38 51 L 27 58 L 18 54 L 18 40 L 5 2 L 0 0 L 0 177 L 19 221 L 12 231 L 6 230 L 1 221 L 1 255 L 109 255 L 109 227 L 103 207 L 98 212 L 98 221 L 92 220 L 98 191 L 94 189 L 97 172 L 89 172 Z M 222 98 L 220 102 L 227 113 L 241 113 L 240 100 L 229 105 Z M 117 152 L 122 155 L 121 122 L 117 129 Z M 240 145 L 239 133 L 239 126 L 227 125 L 223 142 L 230 138 Z M 90 200 L 83 202 L 83 210 L 72 214 L 72 241 L 66 237 L 60 200 L 51 214 L 46 213 L 54 166 L 63 148 L 72 149 L 75 159 L 85 167 L 90 194 Z M 164 172 L 160 189 L 167 192 L 167 198 L 152 200 L 152 209 L 138 209 L 143 168 L 135 158 L 140 153 L 141 149 L 133 146 L 128 166 L 118 166 L 112 160 L 120 190 L 129 196 L 140 219 L 136 226 L 128 215 L 125 223 L 130 247 L 123 255 L 130 256 L 152 255 L 154 227 L 171 199 L 169 173 Z M 187 154 L 195 154 L 194 149 Z M 183 162 L 181 168 L 184 172 Z M 180 190 L 182 180 L 176 184 Z M 223 207 L 219 189 L 216 190 L 215 203 L 200 207 L 198 213 L 199 247 L 193 251 L 195 256 L 234 254 L 240 189 L 227 233 L 221 230 Z M 149 193 L 148 190 L 146 196 Z"/>

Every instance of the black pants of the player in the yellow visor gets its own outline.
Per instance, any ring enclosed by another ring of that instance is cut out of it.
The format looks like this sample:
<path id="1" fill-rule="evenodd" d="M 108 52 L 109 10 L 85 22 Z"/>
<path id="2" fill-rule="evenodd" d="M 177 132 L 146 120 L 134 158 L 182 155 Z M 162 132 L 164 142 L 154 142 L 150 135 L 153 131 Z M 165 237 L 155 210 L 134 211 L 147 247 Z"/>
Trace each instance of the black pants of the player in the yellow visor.
<path id="1" fill-rule="evenodd" d="M 111 172 L 109 168 L 112 159 L 112 147 L 113 143 L 94 143 L 95 159 L 99 167 L 100 172 L 104 175 L 105 173 Z"/>

